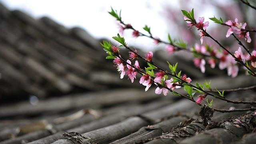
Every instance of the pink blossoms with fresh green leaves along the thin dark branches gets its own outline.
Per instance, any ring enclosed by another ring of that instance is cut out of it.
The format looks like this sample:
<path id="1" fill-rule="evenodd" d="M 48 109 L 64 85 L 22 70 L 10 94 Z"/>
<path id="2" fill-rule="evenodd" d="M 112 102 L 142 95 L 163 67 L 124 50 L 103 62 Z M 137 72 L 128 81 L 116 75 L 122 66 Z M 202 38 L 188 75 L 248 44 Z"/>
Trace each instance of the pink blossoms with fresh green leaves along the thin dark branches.
<path id="1" fill-rule="evenodd" d="M 109 12 L 112 16 L 116 17 L 116 19 L 120 22 L 120 32 L 123 33 L 125 29 L 132 29 L 132 36 L 133 37 L 139 37 L 139 36 L 146 36 L 145 34 L 139 32 L 138 30 L 135 30 L 130 24 L 124 24 L 121 20 L 121 16 L 118 16 L 114 10 Z M 197 30 L 200 31 L 200 41 L 201 44 L 203 43 L 203 37 L 207 36 L 212 38 L 215 42 L 218 43 L 213 37 L 211 37 L 207 32 L 206 28 L 209 26 L 209 22 L 204 22 L 204 17 L 198 18 L 198 22 L 194 18 L 194 10 L 192 9 L 191 12 L 186 12 L 185 10 L 182 10 L 182 13 L 184 14 L 184 20 L 187 22 L 188 26 L 196 27 Z M 234 36 L 234 34 L 238 34 L 238 38 L 244 37 L 247 42 L 251 42 L 249 32 L 245 30 L 246 23 L 238 23 L 238 20 L 236 19 L 235 22 L 228 20 L 225 24 L 223 20 L 220 18 L 220 20 L 214 18 L 210 18 L 216 23 L 223 24 L 226 26 L 229 26 L 228 32 L 226 34 L 226 37 L 229 37 L 231 34 Z M 158 38 L 152 37 L 152 34 L 150 32 L 150 27 L 147 25 L 143 28 L 150 34 L 150 37 L 154 39 L 154 43 L 158 44 L 161 41 Z M 235 36 L 234 36 L 235 37 Z M 170 63 L 167 61 L 168 66 L 171 70 L 171 72 L 168 72 L 157 65 L 153 63 L 153 52 L 149 51 L 146 53 L 145 57 L 142 57 L 138 54 L 138 51 L 136 49 L 130 49 L 127 46 L 127 43 L 124 41 L 124 37 L 120 37 L 118 34 L 117 37 L 113 37 L 116 41 L 121 43 L 122 47 L 125 47 L 129 50 L 129 59 L 125 60 L 122 58 L 122 56 L 119 54 L 119 47 L 112 45 L 110 42 L 103 41 L 103 44 L 101 43 L 103 49 L 108 53 L 109 56 L 106 57 L 106 59 L 114 59 L 113 63 L 114 66 L 117 67 L 117 70 L 120 72 L 120 78 L 123 79 L 126 75 L 128 79 L 131 80 L 132 83 L 134 83 L 134 79 L 136 79 L 136 75 L 139 73 L 141 75 L 139 83 L 146 86 L 145 91 L 148 91 L 148 89 L 152 86 L 152 84 L 156 85 L 155 93 L 167 95 L 169 91 L 171 91 L 174 95 L 180 95 L 182 97 L 186 97 L 187 99 L 190 99 L 191 101 L 195 102 L 196 104 L 202 106 L 200 103 L 204 101 L 204 99 L 207 97 L 207 95 L 211 95 L 213 97 L 222 97 L 221 99 L 224 99 L 224 91 L 222 93 L 216 89 L 216 91 L 219 93 L 219 96 L 213 95 L 211 93 L 208 93 L 204 90 L 204 88 L 209 89 L 212 91 L 211 84 L 206 81 L 204 85 L 198 84 L 196 82 L 196 85 L 191 84 L 191 79 L 186 74 L 181 76 L 181 71 L 176 72 L 178 63 L 175 65 L 170 65 Z M 168 40 L 169 43 L 166 46 L 166 49 L 169 53 L 174 53 L 174 51 L 186 49 L 186 43 L 183 41 L 175 41 L 170 38 L 170 35 L 168 34 Z M 239 40 L 238 40 L 239 41 Z M 240 42 L 240 41 L 239 41 Z M 240 42 L 241 43 L 241 42 Z M 218 43 L 220 47 L 222 47 L 224 50 L 216 49 L 214 47 L 210 47 L 209 45 L 199 45 L 195 44 L 192 49 L 186 49 L 187 51 L 190 51 L 194 54 L 194 65 L 198 68 L 200 68 L 201 72 L 205 72 L 205 65 L 208 63 L 211 68 L 216 67 L 218 62 L 219 69 L 227 69 L 228 75 L 232 77 L 236 77 L 238 75 L 238 63 L 246 65 L 245 68 L 247 68 L 250 72 L 252 72 L 248 67 L 248 62 L 251 62 L 252 67 L 256 67 L 256 51 L 252 51 L 250 53 L 244 45 L 242 45 L 246 51 L 247 54 L 242 53 L 241 47 L 238 48 L 237 51 L 235 51 L 233 54 L 225 47 L 223 47 L 220 43 Z M 207 58 L 207 59 L 206 59 Z M 149 67 L 145 67 L 145 69 L 142 69 L 139 65 L 139 62 L 137 59 L 143 59 Z M 132 64 L 134 61 L 134 64 Z M 246 63 L 246 64 L 245 64 Z M 248 71 L 248 73 L 249 73 Z M 252 72 L 254 74 L 254 72 Z M 168 79 L 168 76 L 171 76 L 170 79 Z M 137 76 L 138 77 L 138 76 Z M 175 89 L 178 88 L 184 88 L 184 91 L 188 93 L 188 95 L 182 95 L 180 93 L 175 92 Z M 198 96 L 198 99 L 194 100 L 194 94 L 198 92 L 201 95 Z M 208 99 L 206 99 L 206 102 L 208 103 Z M 208 103 L 209 107 L 212 108 L 212 102 Z"/>

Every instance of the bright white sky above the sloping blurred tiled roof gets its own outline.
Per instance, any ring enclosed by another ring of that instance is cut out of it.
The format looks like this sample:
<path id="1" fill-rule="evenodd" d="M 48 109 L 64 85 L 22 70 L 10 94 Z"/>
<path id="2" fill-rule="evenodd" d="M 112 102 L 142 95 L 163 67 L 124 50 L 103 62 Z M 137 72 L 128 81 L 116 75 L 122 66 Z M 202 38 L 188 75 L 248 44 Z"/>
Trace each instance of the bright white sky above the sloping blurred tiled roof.
<path id="1" fill-rule="evenodd" d="M 170 5 L 179 7 L 177 0 L 0 0 L 10 9 L 22 10 L 34 18 L 48 16 L 56 22 L 72 28 L 79 26 L 96 38 L 116 36 L 118 26 L 116 20 L 108 14 L 110 6 L 118 11 L 122 9 L 124 22 L 134 28 L 143 30 L 147 24 L 151 31 L 161 39 L 166 39 L 168 26 L 162 16 L 163 7 Z M 212 16 L 214 9 L 209 8 L 204 15 Z M 182 20 L 182 19 L 181 19 Z M 206 19 L 207 20 L 207 19 Z M 155 45 L 146 37 L 135 39 L 131 32 L 124 33 L 126 41 L 132 45 L 151 50 Z M 150 44 L 149 44 L 150 43 Z"/>

